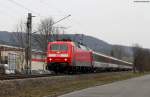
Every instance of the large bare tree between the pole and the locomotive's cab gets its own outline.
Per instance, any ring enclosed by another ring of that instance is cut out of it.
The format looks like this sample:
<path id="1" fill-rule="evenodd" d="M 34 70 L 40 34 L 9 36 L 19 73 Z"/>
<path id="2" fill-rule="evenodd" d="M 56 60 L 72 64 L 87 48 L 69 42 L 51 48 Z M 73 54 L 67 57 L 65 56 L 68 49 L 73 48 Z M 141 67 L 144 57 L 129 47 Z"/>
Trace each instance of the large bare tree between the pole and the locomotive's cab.
<path id="1" fill-rule="evenodd" d="M 48 41 L 51 41 L 50 37 L 52 37 L 55 31 L 54 27 L 52 26 L 53 24 L 54 20 L 51 17 L 41 20 L 37 28 L 38 34 L 33 35 L 34 41 L 44 52 L 46 52 Z"/>

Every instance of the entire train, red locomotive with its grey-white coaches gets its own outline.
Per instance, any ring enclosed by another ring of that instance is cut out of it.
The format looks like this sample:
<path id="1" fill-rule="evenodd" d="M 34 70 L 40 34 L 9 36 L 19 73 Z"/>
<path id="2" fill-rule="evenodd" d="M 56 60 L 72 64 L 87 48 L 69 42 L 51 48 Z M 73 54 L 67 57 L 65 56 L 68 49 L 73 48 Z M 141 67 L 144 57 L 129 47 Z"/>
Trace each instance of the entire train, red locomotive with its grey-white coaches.
<path id="1" fill-rule="evenodd" d="M 131 63 L 96 53 L 72 41 L 48 43 L 47 69 L 56 73 L 131 70 Z"/>

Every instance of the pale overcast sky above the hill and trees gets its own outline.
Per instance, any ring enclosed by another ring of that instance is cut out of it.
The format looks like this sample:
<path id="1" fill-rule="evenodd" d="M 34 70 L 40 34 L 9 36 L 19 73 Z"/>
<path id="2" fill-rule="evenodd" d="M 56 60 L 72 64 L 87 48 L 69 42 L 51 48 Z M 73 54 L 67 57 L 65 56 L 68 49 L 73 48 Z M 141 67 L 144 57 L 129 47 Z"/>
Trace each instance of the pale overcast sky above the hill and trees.
<path id="1" fill-rule="evenodd" d="M 91 35 L 110 44 L 132 46 L 138 43 L 150 48 L 150 3 L 134 3 L 133 0 L 0 0 L 0 4 L 0 30 L 13 31 L 21 19 L 26 20 L 28 12 L 36 16 L 33 24 L 45 17 L 52 16 L 57 21 L 71 14 L 56 25 L 68 27 L 66 33 Z"/>

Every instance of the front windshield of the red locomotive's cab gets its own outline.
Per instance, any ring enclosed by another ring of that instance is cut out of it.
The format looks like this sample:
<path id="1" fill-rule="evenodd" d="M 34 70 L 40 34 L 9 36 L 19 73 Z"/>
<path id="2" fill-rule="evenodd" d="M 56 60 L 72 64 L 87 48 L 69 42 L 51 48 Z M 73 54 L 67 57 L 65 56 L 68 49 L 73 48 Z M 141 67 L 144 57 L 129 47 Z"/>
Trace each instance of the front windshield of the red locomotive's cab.
<path id="1" fill-rule="evenodd" d="M 68 50 L 68 46 L 67 46 L 67 44 L 52 44 L 50 46 L 50 50 L 67 51 Z"/>

